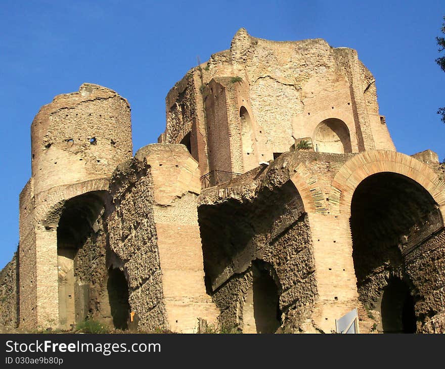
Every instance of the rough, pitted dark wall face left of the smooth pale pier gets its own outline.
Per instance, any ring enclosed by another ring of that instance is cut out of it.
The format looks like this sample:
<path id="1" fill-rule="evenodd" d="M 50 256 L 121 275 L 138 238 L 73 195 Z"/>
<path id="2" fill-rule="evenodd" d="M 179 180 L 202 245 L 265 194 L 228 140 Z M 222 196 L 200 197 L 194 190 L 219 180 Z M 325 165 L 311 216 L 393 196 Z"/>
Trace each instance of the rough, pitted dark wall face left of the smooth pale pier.
<path id="1" fill-rule="evenodd" d="M 139 329 L 167 329 L 153 216 L 153 180 L 146 161 L 120 164 L 111 179 L 115 210 L 107 219 L 111 250 L 127 277 L 129 304 Z"/>

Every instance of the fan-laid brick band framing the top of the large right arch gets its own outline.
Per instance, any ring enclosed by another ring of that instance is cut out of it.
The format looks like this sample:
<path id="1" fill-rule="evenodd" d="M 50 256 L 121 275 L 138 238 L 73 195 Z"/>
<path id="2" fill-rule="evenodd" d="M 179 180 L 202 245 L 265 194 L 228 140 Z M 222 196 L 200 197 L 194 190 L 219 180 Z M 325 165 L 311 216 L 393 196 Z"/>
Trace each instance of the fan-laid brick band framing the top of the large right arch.
<path id="1" fill-rule="evenodd" d="M 395 151 L 365 151 L 349 159 L 337 172 L 329 196 L 329 212 L 350 216 L 355 189 L 370 175 L 392 172 L 405 175 L 419 183 L 445 215 L 445 182 L 421 161 Z"/>

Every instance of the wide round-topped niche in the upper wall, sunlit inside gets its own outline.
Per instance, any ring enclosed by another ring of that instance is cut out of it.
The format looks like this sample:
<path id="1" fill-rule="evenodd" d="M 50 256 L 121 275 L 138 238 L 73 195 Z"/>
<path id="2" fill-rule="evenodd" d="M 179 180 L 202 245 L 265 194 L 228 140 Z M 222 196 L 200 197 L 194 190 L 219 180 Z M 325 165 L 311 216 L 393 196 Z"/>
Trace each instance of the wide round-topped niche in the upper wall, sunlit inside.
<path id="1" fill-rule="evenodd" d="M 322 121 L 315 129 L 314 149 L 316 152 L 351 153 L 351 137 L 346 124 L 337 118 Z"/>

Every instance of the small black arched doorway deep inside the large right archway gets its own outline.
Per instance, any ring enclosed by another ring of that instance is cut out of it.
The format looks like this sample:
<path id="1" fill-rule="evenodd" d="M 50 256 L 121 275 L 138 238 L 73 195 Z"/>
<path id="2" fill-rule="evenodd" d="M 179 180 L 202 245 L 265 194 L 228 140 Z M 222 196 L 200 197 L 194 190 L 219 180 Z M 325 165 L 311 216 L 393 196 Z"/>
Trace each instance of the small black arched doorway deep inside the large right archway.
<path id="1" fill-rule="evenodd" d="M 383 333 L 415 333 L 414 299 L 406 283 L 390 278 L 381 302 Z"/>

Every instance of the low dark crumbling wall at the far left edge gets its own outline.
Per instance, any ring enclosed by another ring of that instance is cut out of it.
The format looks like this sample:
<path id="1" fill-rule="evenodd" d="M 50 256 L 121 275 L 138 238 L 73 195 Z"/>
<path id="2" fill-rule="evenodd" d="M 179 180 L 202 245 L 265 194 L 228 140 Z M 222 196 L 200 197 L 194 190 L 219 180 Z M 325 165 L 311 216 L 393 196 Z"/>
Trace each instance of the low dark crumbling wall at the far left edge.
<path id="1" fill-rule="evenodd" d="M 17 253 L 0 270 L 0 325 L 15 328 L 18 325 L 18 266 Z"/>

